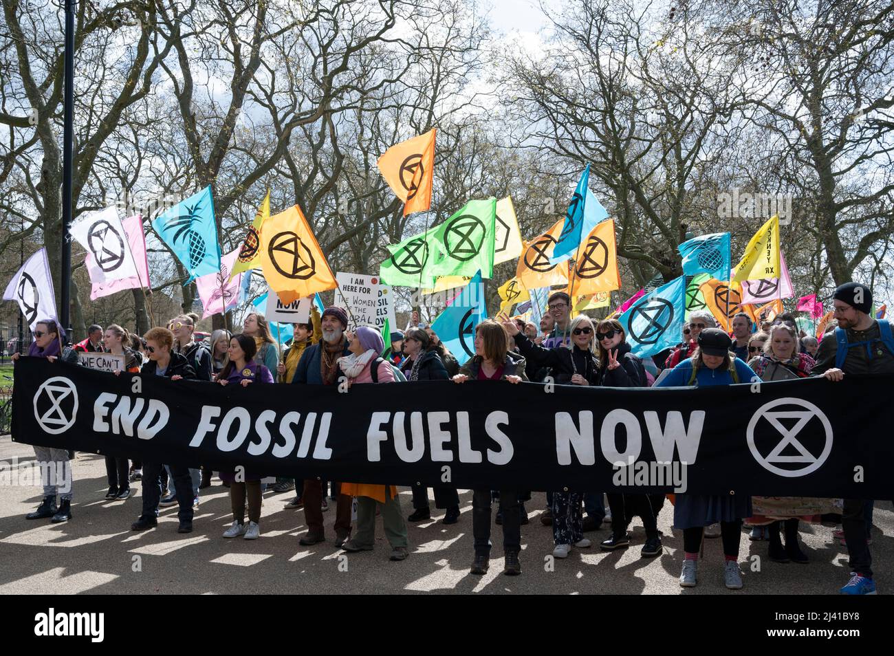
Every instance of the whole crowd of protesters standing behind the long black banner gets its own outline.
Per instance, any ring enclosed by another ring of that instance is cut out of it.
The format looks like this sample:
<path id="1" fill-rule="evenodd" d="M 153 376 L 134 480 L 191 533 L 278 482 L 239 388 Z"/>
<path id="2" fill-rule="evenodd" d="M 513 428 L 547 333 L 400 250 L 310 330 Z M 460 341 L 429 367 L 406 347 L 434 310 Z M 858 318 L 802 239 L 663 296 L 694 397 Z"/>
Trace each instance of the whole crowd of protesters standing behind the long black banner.
<path id="1" fill-rule="evenodd" d="M 616 319 L 597 321 L 586 315 L 572 318 L 569 296 L 561 291 L 549 297 L 548 312 L 539 327 L 505 315 L 477 324 L 476 355 L 465 363 L 444 347 L 430 326 L 419 321 L 417 313 L 404 331 L 388 335 L 386 344 L 370 326 L 349 331 L 349 316 L 342 307 L 328 307 L 322 313 L 315 308 L 308 323 L 294 324 L 293 337 L 282 354 L 264 315 L 252 313 L 245 318 L 241 332 L 216 330 L 200 341 L 195 339 L 196 315 L 174 317 L 166 327 L 152 328 L 142 337 L 116 324 L 105 331 L 93 325 L 88 338 L 73 348 L 63 346 L 64 335 L 55 321 L 40 321 L 27 355 L 77 364 L 79 350 L 107 351 L 122 357 L 125 372 L 242 388 L 274 383 L 354 385 L 468 380 L 581 387 L 704 387 L 811 376 L 837 383 L 851 374 L 894 373 L 890 326 L 873 317 L 872 300 L 871 290 L 864 285 L 851 282 L 839 286 L 833 295 L 835 322 L 822 341 L 799 332 L 795 318 L 788 314 L 778 315 L 760 327 L 753 326 L 746 314 L 735 315 L 730 334 L 717 326 L 710 313 L 693 311 L 688 315 L 679 345 L 645 360 L 632 353 L 624 328 Z M 38 461 L 58 467 L 47 467 L 47 471 L 63 472 L 70 480 L 70 452 L 34 449 Z M 106 458 L 106 469 L 108 500 L 129 499 L 131 482 L 141 481 L 141 509 L 131 526 L 134 531 L 157 526 L 159 508 L 176 505 L 178 531 L 190 533 L 199 491 L 212 484 L 214 475 L 210 467 L 130 463 L 127 458 Z M 393 484 L 327 482 L 319 478 L 279 478 L 270 484 L 264 482 L 263 472 L 231 470 L 217 475 L 229 487 L 232 507 L 232 525 L 223 532 L 224 538 L 260 536 L 265 492 L 295 491 L 285 508 L 303 509 L 308 530 L 299 543 L 305 546 L 326 540 L 323 512 L 328 509 L 327 496 L 336 508 L 335 545 L 345 551 L 373 550 L 376 517 L 381 517 L 391 547 L 390 559 L 407 559 L 411 552 L 408 521 L 432 519 L 428 490 L 422 485 L 412 487 L 413 509 L 405 516 Z M 44 483 L 44 499 L 27 518 L 51 518 L 56 523 L 71 520 L 71 485 L 63 491 L 59 481 Z M 669 496 L 673 526 L 683 536 L 681 586 L 697 584 L 698 558 L 705 538 L 721 538 L 724 585 L 738 589 L 743 586 L 738 564 L 743 526 L 750 531 L 750 539 L 768 541 L 768 554 L 773 561 L 803 564 L 809 557 L 799 542 L 799 526 L 837 518 L 840 528 L 834 534 L 847 548 L 852 570 L 841 592 L 875 593 L 869 550 L 872 500 L 692 493 Z M 353 521 L 352 498 L 356 499 Z M 531 492 L 527 490 L 472 491 L 472 574 L 483 575 L 489 568 L 494 505 L 495 523 L 502 529 L 503 571 L 510 576 L 521 573 L 521 526 L 528 523 L 525 502 L 530 499 Z M 599 549 L 628 548 L 629 525 L 634 517 L 640 517 L 645 528 L 640 555 L 654 558 L 663 549 L 658 517 L 665 501 L 662 494 L 547 491 L 547 508 L 541 513 L 541 522 L 552 527 L 552 556 L 563 559 L 572 549 L 593 548 L 594 543 L 585 533 L 603 526 L 609 533 L 598 542 Z M 460 522 L 460 491 L 456 487 L 435 486 L 434 505 L 443 510 L 443 525 Z"/>

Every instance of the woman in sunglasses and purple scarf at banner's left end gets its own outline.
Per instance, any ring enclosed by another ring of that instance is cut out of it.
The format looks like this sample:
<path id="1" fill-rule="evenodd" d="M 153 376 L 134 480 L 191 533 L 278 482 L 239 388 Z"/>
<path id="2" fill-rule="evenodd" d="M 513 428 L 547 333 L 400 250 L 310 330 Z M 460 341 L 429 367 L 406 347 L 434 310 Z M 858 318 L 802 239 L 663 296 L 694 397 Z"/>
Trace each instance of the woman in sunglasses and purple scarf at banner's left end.
<path id="1" fill-rule="evenodd" d="M 61 326 L 52 319 L 38 321 L 34 326 L 34 341 L 28 349 L 28 357 L 46 357 L 49 362 L 61 359 L 70 365 L 78 364 L 78 354 L 71 347 L 62 347 L 64 332 Z M 21 353 L 13 353 L 13 362 L 21 357 Z M 34 455 L 40 466 L 41 478 L 44 485 L 44 498 L 40 501 L 38 509 L 28 513 L 25 519 L 46 519 L 54 524 L 66 522 L 72 518 L 72 466 L 69 464 L 68 451 L 64 449 L 51 449 L 48 447 L 34 447 Z M 62 481 L 58 481 L 56 475 L 61 475 Z M 61 490 L 59 488 L 62 488 Z M 59 492 L 60 502 L 56 508 L 56 493 Z"/>

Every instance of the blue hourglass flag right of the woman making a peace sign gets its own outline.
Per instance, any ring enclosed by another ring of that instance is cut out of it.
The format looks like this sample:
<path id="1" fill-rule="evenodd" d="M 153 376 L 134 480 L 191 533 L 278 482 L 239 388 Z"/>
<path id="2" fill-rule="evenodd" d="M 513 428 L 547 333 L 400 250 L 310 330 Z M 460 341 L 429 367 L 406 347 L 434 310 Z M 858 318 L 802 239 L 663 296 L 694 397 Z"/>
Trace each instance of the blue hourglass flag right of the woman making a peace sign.
<path id="1" fill-rule="evenodd" d="M 618 317 L 627 334 L 631 352 L 638 357 L 654 356 L 683 339 L 686 315 L 686 276 L 650 291 Z"/>

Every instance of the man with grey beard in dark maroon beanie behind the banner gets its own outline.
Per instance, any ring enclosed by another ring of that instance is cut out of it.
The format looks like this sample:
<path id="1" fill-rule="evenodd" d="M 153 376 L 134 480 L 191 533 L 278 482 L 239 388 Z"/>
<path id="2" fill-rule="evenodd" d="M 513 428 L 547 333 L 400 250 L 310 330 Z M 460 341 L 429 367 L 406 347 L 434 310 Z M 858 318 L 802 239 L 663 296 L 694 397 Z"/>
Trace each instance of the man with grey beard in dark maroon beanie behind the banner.
<path id="1" fill-rule="evenodd" d="M 338 358 L 350 353 L 344 332 L 348 329 L 348 313 L 341 307 L 327 307 L 320 319 L 323 339 L 308 346 L 298 367 L 292 383 L 299 385 L 336 385 L 338 384 Z M 338 484 L 333 483 L 333 490 Z M 323 487 L 319 479 L 309 478 L 304 482 L 301 493 L 304 500 L 304 520 L 308 524 L 308 534 L 300 539 L 300 543 L 308 546 L 325 541 L 323 530 Z M 341 547 L 350 537 L 350 497 L 338 495 L 335 511 L 335 545 Z"/>

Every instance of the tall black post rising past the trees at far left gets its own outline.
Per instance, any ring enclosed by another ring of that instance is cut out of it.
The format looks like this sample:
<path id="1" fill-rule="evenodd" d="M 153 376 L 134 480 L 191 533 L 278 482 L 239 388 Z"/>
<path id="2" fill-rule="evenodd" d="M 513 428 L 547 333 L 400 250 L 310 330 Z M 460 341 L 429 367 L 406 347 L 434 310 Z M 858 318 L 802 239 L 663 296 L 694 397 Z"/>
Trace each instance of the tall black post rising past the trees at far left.
<path id="1" fill-rule="evenodd" d="M 72 240 L 69 227 L 72 225 L 72 155 L 74 142 L 74 3 L 65 0 L 65 62 L 64 62 L 64 111 L 63 111 L 63 182 L 62 182 L 62 270 L 59 273 L 62 284 L 62 316 L 60 320 L 71 333 L 72 296 Z M 60 340 L 62 333 L 59 332 Z M 60 355 L 61 349 L 60 349 Z"/>

